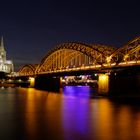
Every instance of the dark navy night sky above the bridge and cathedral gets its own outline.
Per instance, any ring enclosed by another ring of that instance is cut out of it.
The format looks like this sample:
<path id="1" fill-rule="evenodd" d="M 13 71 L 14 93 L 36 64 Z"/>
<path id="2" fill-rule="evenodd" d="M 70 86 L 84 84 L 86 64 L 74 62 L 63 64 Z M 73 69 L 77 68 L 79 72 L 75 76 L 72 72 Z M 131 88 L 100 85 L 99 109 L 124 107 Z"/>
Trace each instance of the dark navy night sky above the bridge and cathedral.
<path id="1" fill-rule="evenodd" d="M 140 35 L 140 4 L 126 0 L 3 0 L 0 36 L 15 70 L 63 42 L 121 47 Z"/>

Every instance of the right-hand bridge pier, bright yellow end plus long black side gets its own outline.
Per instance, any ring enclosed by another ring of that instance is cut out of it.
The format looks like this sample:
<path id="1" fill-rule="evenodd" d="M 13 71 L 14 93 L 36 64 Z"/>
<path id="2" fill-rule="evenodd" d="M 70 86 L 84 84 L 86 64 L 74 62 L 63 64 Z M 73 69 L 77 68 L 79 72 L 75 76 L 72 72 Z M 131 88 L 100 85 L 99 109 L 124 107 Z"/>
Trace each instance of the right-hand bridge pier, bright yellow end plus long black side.
<path id="1" fill-rule="evenodd" d="M 98 94 L 109 96 L 140 96 L 139 69 L 125 69 L 98 75 Z"/>

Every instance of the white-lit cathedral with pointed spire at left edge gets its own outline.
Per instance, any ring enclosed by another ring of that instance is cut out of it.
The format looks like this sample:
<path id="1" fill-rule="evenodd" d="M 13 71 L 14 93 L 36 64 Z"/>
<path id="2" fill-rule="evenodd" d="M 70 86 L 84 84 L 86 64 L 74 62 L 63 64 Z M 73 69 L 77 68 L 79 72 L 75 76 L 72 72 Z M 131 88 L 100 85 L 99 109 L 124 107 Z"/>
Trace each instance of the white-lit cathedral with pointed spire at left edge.
<path id="1" fill-rule="evenodd" d="M 14 70 L 13 62 L 6 60 L 6 51 L 4 48 L 3 37 L 0 41 L 0 72 L 11 73 Z"/>

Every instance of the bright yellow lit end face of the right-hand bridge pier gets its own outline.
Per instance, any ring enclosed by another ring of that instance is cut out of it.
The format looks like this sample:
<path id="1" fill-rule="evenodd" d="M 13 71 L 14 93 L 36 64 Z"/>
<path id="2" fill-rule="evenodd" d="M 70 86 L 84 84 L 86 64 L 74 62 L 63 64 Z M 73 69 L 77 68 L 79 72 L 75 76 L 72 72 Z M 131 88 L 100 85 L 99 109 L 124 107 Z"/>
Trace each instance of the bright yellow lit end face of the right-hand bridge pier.
<path id="1" fill-rule="evenodd" d="M 109 92 L 109 75 L 99 74 L 98 77 L 98 94 L 107 95 Z"/>

